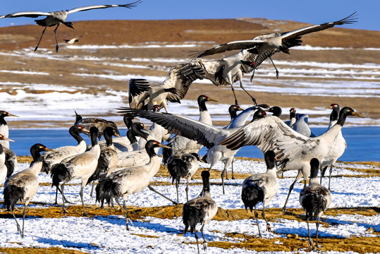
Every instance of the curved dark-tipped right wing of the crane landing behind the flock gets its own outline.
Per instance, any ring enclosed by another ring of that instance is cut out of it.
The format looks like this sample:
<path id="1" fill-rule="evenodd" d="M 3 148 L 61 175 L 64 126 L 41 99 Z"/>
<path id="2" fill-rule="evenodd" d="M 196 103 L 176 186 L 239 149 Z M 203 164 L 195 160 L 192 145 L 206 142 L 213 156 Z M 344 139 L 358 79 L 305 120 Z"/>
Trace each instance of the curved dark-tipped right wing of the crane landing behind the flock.
<path id="1" fill-rule="evenodd" d="M 182 63 L 173 66 L 164 80 L 164 87 L 176 87 L 176 92 L 168 93 L 166 99 L 169 102 L 179 102 L 185 97 L 192 82 L 198 78 L 202 79 L 202 75 L 204 75 L 203 69 L 196 66 L 195 63 Z"/>

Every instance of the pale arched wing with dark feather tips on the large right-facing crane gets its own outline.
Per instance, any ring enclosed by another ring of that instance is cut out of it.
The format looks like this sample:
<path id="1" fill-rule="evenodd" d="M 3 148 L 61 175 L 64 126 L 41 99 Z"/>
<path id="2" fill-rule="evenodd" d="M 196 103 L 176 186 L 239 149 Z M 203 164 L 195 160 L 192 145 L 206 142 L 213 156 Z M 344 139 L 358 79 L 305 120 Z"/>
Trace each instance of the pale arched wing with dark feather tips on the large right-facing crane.
<path id="1" fill-rule="evenodd" d="M 257 119 L 220 143 L 231 150 L 257 145 L 262 152 L 273 150 L 278 161 L 300 157 L 302 152 L 312 150 L 318 144 L 319 138 L 308 138 L 295 132 L 276 116 Z"/>

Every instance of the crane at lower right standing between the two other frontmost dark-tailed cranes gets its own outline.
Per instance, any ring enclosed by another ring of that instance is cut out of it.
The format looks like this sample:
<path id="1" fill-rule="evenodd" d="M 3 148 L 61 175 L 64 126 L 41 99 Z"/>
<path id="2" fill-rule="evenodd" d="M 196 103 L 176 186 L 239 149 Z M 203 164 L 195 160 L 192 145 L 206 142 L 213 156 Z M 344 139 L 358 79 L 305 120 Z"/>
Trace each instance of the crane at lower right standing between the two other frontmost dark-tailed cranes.
<path id="1" fill-rule="evenodd" d="M 266 163 L 266 173 L 254 174 L 243 181 L 241 198 L 243 200 L 245 210 L 248 212 L 255 208 L 255 218 L 259 237 L 262 237 L 259 219 L 257 219 L 256 205 L 262 202 L 262 217 L 266 222 L 266 230 L 271 231 L 271 226 L 265 218 L 265 207 L 274 198 L 278 191 L 278 181 L 276 177 L 276 164 L 274 160 L 275 154 L 269 150 L 265 152 L 264 159 Z"/>

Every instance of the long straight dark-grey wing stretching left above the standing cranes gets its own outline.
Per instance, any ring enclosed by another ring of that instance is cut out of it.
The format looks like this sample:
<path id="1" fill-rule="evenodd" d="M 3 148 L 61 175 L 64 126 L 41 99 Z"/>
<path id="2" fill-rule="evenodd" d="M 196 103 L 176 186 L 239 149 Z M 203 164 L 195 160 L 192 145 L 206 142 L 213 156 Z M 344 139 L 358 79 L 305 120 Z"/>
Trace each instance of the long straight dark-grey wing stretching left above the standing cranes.
<path id="1" fill-rule="evenodd" d="M 173 134 L 196 140 L 197 143 L 207 148 L 211 148 L 232 133 L 231 130 L 218 129 L 178 114 L 130 109 L 128 107 L 121 107 L 118 110 L 118 113 L 131 117 L 140 116 L 148 119 L 166 128 L 166 130 Z"/>

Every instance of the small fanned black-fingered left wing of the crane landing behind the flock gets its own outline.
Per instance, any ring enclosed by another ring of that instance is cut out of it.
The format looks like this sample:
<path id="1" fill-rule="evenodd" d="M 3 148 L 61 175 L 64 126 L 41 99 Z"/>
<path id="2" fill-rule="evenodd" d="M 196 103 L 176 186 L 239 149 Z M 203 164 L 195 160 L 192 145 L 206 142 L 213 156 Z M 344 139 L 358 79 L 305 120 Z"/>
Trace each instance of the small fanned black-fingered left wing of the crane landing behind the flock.
<path id="1" fill-rule="evenodd" d="M 133 109 L 141 109 L 144 101 L 149 97 L 147 91 L 151 89 L 149 82 L 143 78 L 131 78 L 129 80 L 128 102 Z"/>

